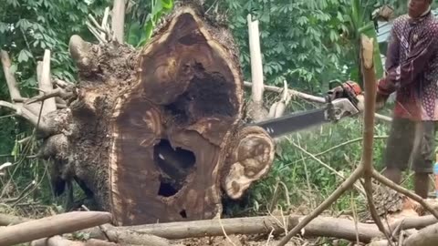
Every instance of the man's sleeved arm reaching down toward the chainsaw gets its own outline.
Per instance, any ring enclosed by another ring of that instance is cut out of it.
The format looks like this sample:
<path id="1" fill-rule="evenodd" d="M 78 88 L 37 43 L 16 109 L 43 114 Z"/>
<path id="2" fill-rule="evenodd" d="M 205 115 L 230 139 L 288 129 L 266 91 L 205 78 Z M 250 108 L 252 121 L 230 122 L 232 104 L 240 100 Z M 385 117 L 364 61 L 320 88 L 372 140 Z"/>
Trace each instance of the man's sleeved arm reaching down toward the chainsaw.
<path id="1" fill-rule="evenodd" d="M 413 46 L 405 62 L 399 66 L 396 63 L 391 63 L 393 66 L 387 70 L 386 77 L 381 78 L 381 81 L 379 81 L 379 92 L 382 95 L 390 95 L 396 87 L 405 87 L 411 84 L 433 57 L 436 51 L 435 40 L 436 38 L 433 35 L 419 37 L 418 43 Z M 399 40 L 394 40 L 391 43 L 392 47 L 397 46 L 398 48 L 400 46 Z"/>

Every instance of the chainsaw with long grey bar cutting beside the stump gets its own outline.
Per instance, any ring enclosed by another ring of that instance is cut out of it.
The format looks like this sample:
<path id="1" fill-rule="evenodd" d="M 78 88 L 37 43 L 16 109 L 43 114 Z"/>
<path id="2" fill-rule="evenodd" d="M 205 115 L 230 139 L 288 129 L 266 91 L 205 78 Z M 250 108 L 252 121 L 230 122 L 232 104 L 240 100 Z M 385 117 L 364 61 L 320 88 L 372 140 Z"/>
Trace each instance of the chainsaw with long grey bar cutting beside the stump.
<path id="1" fill-rule="evenodd" d="M 338 86 L 335 86 L 338 84 Z M 324 123 L 336 123 L 341 118 L 351 117 L 360 113 L 358 96 L 362 94 L 360 86 L 352 81 L 341 83 L 331 81 L 329 90 L 324 97 L 323 108 L 288 114 L 280 118 L 272 118 L 249 126 L 264 128 L 272 138 L 315 127 Z"/>

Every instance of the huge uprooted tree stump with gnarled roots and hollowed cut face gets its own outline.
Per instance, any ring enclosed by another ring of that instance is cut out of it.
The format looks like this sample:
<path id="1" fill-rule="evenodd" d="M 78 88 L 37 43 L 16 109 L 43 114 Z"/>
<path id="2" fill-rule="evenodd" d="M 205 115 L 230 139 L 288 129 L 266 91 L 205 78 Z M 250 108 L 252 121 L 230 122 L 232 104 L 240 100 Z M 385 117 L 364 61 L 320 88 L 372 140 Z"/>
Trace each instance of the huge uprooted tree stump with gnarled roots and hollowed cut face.
<path id="1" fill-rule="evenodd" d="M 267 173 L 274 145 L 242 124 L 233 38 L 198 8 L 176 8 L 139 51 L 79 36 L 69 49 L 78 97 L 43 149 L 57 194 L 76 179 L 118 225 L 203 220 Z"/>

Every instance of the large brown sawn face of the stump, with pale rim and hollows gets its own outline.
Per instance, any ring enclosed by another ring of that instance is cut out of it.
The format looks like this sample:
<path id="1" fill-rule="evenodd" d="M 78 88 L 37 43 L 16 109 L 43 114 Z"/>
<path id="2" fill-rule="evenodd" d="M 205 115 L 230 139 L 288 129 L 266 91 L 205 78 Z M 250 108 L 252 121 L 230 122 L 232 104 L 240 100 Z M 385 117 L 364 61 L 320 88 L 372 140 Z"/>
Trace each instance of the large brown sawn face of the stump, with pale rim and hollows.
<path id="1" fill-rule="evenodd" d="M 242 80 L 213 32 L 192 8 L 181 8 L 141 51 L 139 79 L 111 122 L 110 193 L 120 224 L 219 212 L 216 184 L 240 118 Z"/>

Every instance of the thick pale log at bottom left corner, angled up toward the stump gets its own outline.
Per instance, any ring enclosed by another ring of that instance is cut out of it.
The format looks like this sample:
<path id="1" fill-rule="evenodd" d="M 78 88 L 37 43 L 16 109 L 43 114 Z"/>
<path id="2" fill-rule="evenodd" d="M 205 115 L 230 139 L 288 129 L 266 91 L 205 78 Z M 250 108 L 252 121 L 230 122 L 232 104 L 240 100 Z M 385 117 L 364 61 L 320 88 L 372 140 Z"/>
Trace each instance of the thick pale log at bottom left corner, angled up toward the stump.
<path id="1" fill-rule="evenodd" d="M 30 220 L 2 229 L 0 231 L 0 245 L 34 241 L 91 228 L 110 221 L 110 213 L 97 211 L 74 211 L 39 220 Z"/>

